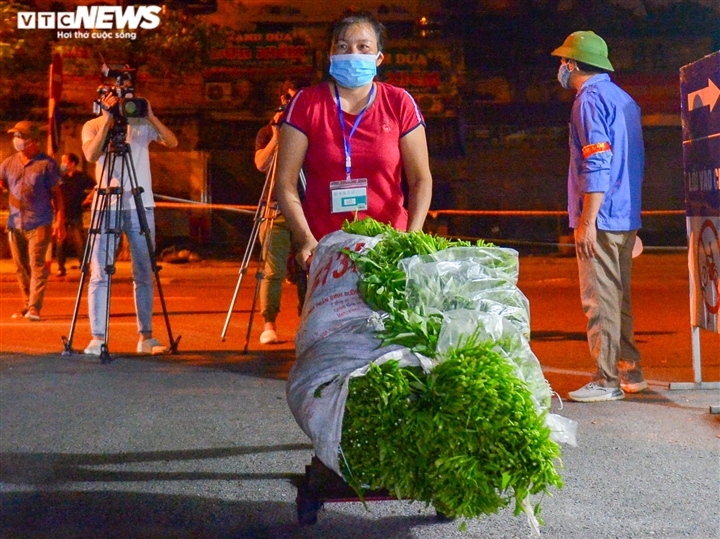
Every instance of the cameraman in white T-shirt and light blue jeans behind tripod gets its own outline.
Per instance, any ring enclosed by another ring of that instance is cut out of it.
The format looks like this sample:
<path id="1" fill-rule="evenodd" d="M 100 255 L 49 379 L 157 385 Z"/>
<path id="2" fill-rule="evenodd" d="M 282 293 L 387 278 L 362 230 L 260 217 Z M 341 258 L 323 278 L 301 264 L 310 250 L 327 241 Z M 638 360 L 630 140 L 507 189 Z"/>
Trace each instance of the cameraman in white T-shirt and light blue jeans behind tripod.
<path id="1" fill-rule="evenodd" d="M 130 87 L 129 80 L 125 84 Z M 111 129 L 122 127 L 126 121 L 125 132 L 120 135 L 125 136 L 125 142 L 130 147 L 132 155 L 132 165 L 137 174 L 138 187 L 142 189 L 142 201 L 147 224 L 150 231 L 151 243 L 155 244 L 155 202 L 152 191 L 152 178 L 150 175 L 150 154 L 148 147 L 151 142 L 159 143 L 174 148 L 178 144 L 175 134 L 168 129 L 153 114 L 150 103 L 147 102 L 147 116 L 143 118 L 123 118 L 120 116 L 119 110 L 120 100 L 113 92 L 108 92 L 102 98 L 100 106 L 102 113 L 97 118 L 93 118 L 85 123 L 82 131 L 83 153 L 85 158 L 91 163 L 96 163 L 96 180 L 98 188 L 112 187 L 122 178 L 123 193 L 121 208 L 111 207 L 111 214 L 115 211 L 121 212 L 121 229 L 125 233 L 130 247 L 130 256 L 132 259 L 132 278 L 135 292 L 135 310 L 137 315 L 138 332 L 140 340 L 137 345 L 137 352 L 141 354 L 162 354 L 168 351 L 160 341 L 155 339 L 152 334 L 152 315 L 154 300 L 153 285 L 153 267 L 148 252 L 146 239 L 143 237 L 137 209 L 135 207 L 135 199 L 131 193 L 130 180 L 127 178 L 128 170 L 121 170 L 123 161 L 119 159 L 115 162 L 113 171 L 105 171 L 102 176 L 103 163 L 110 157 L 107 154 L 107 142 L 109 134 L 113 135 Z M 110 172 L 108 174 L 108 172 Z M 93 211 L 98 211 L 97 197 L 93 203 Z M 114 215 L 111 215 L 110 222 L 113 222 Z M 101 233 L 97 238 L 95 248 L 92 252 L 92 275 L 90 279 L 88 294 L 88 312 L 90 318 L 90 330 L 92 340 L 85 349 L 86 354 L 101 355 L 102 346 L 105 342 L 105 322 L 107 320 L 107 287 L 108 276 L 105 272 L 106 264 L 114 264 L 115 254 L 117 250 L 118 236 Z M 113 245 L 110 246 L 110 242 Z M 109 248 L 110 247 L 110 248 Z M 108 252 L 109 251 L 109 252 Z"/>

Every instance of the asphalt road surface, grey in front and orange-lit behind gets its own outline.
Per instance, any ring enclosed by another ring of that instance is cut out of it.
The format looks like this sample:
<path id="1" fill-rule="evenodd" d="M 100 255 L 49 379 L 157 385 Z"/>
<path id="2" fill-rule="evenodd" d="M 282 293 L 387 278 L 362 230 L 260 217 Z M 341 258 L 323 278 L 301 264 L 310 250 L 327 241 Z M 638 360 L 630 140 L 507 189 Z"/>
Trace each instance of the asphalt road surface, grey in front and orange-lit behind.
<path id="1" fill-rule="evenodd" d="M 100 364 L 63 356 L 77 270 L 48 285 L 43 320 L 13 320 L 19 295 L 0 260 L 0 537 L 2 538 L 520 538 L 512 510 L 438 522 L 407 501 L 327 503 L 299 527 L 294 481 L 312 447 L 285 402 L 298 317 L 288 285 L 281 343 L 262 346 L 259 317 L 243 353 L 255 286 L 243 283 L 220 335 L 239 263 L 166 264 L 161 282 L 178 353 L 138 356 L 127 263 L 113 285 L 109 349 Z M 523 257 L 532 347 L 561 396 L 584 384 L 585 321 L 574 260 Z M 650 388 L 624 401 L 561 404 L 579 423 L 564 447 L 565 486 L 542 500 L 542 537 L 720 537 L 718 391 L 668 390 L 693 381 L 684 254 L 643 254 L 634 274 L 636 330 Z M 86 294 L 86 290 L 84 291 Z M 89 340 L 85 296 L 73 349 Z M 167 341 L 156 309 L 155 334 Z M 703 380 L 720 380 L 720 335 L 701 332 Z M 562 409 L 560 409 L 562 406 Z"/>

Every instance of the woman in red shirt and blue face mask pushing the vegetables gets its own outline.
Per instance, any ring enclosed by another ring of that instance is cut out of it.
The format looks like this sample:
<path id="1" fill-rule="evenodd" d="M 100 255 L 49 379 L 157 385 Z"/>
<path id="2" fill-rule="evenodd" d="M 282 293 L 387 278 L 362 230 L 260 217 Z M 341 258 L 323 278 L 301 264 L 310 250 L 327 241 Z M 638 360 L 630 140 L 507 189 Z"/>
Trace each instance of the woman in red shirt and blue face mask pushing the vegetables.
<path id="1" fill-rule="evenodd" d="M 422 229 L 430 207 L 432 175 L 420 109 L 407 91 L 373 80 L 383 40 L 384 27 L 371 14 L 341 19 L 330 47 L 332 80 L 299 91 L 286 111 L 277 198 L 303 267 L 318 240 L 346 219 L 369 216 L 413 231 Z M 303 200 L 297 189 L 301 168 Z"/>

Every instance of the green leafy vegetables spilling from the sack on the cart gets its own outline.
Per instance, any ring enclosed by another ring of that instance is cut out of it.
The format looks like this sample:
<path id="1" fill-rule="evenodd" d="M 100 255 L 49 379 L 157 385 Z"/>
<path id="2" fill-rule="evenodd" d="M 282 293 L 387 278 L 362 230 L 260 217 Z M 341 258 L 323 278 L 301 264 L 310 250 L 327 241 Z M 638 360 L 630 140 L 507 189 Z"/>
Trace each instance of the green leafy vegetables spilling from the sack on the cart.
<path id="1" fill-rule="evenodd" d="M 546 408 L 518 376 L 522 358 L 508 357 L 501 343 L 483 340 L 480 332 L 438 353 L 443 312 L 408 306 L 399 262 L 470 244 L 402 233 L 368 219 L 346 223 L 344 230 L 383 235 L 372 249 L 348 253 L 360 273 L 361 296 L 387 313 L 383 344 L 403 344 L 434 363 L 424 372 L 391 360 L 351 378 L 341 444 L 348 483 L 359 493 L 385 488 L 465 518 L 496 512 L 512 500 L 517 514 L 529 494 L 561 487 L 555 469 L 560 448 L 550 439 Z"/>

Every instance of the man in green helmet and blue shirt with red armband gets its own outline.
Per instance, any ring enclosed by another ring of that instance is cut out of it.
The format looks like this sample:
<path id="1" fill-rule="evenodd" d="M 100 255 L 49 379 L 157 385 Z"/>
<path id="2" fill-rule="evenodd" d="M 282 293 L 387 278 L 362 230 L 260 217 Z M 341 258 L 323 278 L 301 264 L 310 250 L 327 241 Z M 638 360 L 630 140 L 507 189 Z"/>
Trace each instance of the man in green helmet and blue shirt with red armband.
<path id="1" fill-rule="evenodd" d="M 552 55 L 561 59 L 560 84 L 577 92 L 570 121 L 568 212 L 590 354 L 597 364 L 590 383 L 569 397 L 618 400 L 647 387 L 630 302 L 645 166 L 640 107 L 610 80 L 608 48 L 594 32 L 570 34 Z"/>

